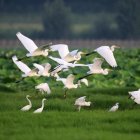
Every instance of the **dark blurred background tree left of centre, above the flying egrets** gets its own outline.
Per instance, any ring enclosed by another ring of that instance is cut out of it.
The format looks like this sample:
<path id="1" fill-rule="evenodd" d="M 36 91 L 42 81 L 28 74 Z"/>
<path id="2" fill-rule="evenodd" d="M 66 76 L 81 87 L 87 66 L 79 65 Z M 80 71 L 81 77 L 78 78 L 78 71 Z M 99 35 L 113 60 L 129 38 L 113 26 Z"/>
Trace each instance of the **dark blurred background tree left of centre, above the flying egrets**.
<path id="1" fill-rule="evenodd" d="M 55 0 L 45 3 L 44 30 L 48 38 L 67 38 L 70 34 L 70 8 L 63 0 Z"/>

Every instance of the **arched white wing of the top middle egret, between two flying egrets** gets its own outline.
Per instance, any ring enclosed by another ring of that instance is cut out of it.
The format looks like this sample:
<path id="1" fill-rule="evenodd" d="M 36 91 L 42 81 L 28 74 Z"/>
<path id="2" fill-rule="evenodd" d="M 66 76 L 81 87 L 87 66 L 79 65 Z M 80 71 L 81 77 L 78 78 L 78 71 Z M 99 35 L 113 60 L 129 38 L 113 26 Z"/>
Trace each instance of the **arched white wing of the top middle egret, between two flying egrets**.
<path id="1" fill-rule="evenodd" d="M 58 51 L 61 58 L 64 58 L 67 54 L 69 54 L 69 48 L 66 44 L 57 44 L 50 46 L 51 51 Z"/>

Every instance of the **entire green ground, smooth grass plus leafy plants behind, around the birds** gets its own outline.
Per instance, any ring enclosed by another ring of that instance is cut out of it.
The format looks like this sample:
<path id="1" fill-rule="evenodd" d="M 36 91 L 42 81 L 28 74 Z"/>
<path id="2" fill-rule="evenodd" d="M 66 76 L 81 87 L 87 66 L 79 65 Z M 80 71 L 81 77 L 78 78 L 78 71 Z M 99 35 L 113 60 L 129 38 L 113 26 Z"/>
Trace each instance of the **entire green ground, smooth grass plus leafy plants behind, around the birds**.
<path id="1" fill-rule="evenodd" d="M 89 50 L 84 50 L 89 51 Z M 128 99 L 128 91 L 140 88 L 140 49 L 119 49 L 115 56 L 119 67 L 107 75 L 95 75 L 88 78 L 89 86 L 72 89 L 64 99 L 64 89 L 55 79 L 44 77 L 27 78 L 15 83 L 21 77 L 21 71 L 11 61 L 11 57 L 24 56 L 25 51 L 18 49 L 1 49 L 0 51 L 0 139 L 1 140 L 136 140 L 140 137 L 140 106 Z M 57 54 L 56 54 L 57 55 Z M 94 54 L 83 58 L 81 63 L 89 63 L 98 56 Z M 32 67 L 33 62 L 43 63 L 48 58 L 27 59 L 24 62 Z M 109 67 L 106 63 L 103 67 Z M 65 77 L 75 73 L 76 77 L 85 75 L 84 69 L 71 69 L 60 74 Z M 80 73 L 80 74 L 79 74 Z M 52 93 L 41 95 L 35 86 L 47 81 Z M 27 104 L 25 96 L 31 95 L 33 107 L 28 112 L 20 109 Z M 91 101 L 90 107 L 78 112 L 74 106 L 75 99 L 86 96 Z M 33 114 L 41 106 L 45 97 L 44 111 Z M 116 102 L 119 110 L 108 112 Z"/>

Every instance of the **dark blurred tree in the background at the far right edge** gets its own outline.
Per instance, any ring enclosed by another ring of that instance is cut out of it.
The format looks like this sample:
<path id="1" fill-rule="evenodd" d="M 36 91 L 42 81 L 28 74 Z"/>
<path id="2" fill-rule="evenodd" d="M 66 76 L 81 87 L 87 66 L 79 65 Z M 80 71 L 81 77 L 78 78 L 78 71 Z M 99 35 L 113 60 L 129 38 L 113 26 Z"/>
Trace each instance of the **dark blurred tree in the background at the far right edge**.
<path id="1" fill-rule="evenodd" d="M 140 37 L 140 1 L 120 0 L 118 4 L 118 31 L 122 39 Z"/>

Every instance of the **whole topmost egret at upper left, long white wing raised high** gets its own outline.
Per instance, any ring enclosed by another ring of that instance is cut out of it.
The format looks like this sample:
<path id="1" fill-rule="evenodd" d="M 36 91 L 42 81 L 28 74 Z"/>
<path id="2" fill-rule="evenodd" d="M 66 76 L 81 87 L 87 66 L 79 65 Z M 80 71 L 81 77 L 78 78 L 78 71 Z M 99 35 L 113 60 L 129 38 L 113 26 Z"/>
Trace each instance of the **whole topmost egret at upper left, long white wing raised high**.
<path id="1" fill-rule="evenodd" d="M 41 47 L 38 48 L 37 45 L 33 42 L 33 40 L 31 40 L 30 38 L 24 36 L 20 32 L 18 32 L 16 34 L 16 36 L 21 41 L 23 46 L 28 50 L 29 53 L 26 54 L 27 57 L 40 56 L 40 55 L 47 56 L 48 55 L 48 52 L 50 50 L 49 46 L 52 43 L 44 45 L 44 46 L 41 46 Z"/>

